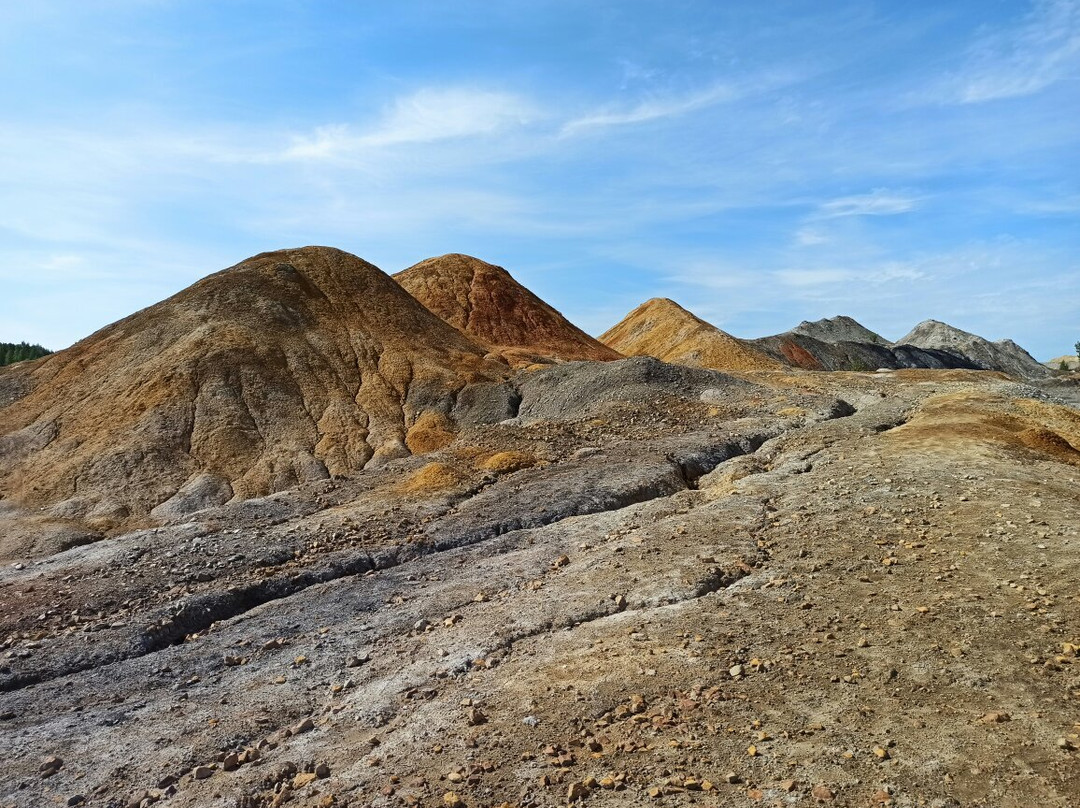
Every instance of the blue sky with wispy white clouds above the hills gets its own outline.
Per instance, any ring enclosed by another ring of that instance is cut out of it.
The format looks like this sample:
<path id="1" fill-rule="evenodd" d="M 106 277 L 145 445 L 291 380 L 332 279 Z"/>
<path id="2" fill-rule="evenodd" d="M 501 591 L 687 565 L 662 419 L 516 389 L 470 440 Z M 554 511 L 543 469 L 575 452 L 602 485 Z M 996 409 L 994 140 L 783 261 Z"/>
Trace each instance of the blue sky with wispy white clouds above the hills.
<path id="1" fill-rule="evenodd" d="M 0 340 L 305 244 L 1071 352 L 1080 0 L 0 4 Z"/>

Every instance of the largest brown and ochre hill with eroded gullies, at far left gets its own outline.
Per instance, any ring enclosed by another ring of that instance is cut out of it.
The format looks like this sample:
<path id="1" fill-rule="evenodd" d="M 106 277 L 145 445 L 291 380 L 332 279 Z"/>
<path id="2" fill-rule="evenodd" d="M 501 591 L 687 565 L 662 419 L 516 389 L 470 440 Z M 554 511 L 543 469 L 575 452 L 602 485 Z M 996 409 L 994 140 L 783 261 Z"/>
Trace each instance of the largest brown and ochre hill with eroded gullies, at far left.
<path id="1" fill-rule="evenodd" d="M 107 529 L 433 448 L 483 354 L 355 256 L 265 253 L 3 368 L 0 504 Z"/>

